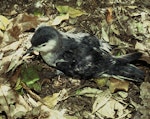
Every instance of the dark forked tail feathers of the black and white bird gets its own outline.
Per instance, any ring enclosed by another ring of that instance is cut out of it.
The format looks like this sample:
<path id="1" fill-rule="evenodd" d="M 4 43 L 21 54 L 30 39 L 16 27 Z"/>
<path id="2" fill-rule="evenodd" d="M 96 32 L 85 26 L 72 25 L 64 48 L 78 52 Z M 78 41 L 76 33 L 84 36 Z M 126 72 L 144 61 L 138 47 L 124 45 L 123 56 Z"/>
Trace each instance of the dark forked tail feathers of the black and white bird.
<path id="1" fill-rule="evenodd" d="M 144 80 L 144 72 L 130 62 L 140 58 L 142 53 L 132 53 L 122 57 L 117 57 L 116 62 L 110 68 L 108 74 L 119 79 L 141 82 Z"/>

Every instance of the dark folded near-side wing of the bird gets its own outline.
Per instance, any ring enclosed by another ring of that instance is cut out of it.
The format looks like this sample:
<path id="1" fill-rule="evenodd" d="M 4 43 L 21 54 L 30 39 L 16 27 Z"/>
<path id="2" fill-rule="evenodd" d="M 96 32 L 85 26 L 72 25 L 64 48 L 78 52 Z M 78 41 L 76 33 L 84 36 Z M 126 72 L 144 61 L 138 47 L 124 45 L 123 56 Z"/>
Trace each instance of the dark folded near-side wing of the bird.
<path id="1" fill-rule="evenodd" d="M 91 40 L 90 40 L 91 39 Z M 100 49 L 97 39 L 85 38 L 79 43 L 71 41 L 59 56 L 57 69 L 65 74 L 78 78 L 91 78 L 97 72 L 105 72 L 109 65 L 110 55 Z"/>

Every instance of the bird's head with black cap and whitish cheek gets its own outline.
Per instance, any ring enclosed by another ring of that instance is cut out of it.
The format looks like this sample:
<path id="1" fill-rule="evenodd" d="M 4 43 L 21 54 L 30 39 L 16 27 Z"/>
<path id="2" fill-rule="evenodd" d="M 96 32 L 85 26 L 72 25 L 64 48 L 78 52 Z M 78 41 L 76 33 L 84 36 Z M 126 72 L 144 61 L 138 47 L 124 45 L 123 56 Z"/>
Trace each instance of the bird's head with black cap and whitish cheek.
<path id="1" fill-rule="evenodd" d="M 32 49 L 39 52 L 53 52 L 58 49 L 59 44 L 61 44 L 60 33 L 50 26 L 39 27 L 32 39 Z"/>

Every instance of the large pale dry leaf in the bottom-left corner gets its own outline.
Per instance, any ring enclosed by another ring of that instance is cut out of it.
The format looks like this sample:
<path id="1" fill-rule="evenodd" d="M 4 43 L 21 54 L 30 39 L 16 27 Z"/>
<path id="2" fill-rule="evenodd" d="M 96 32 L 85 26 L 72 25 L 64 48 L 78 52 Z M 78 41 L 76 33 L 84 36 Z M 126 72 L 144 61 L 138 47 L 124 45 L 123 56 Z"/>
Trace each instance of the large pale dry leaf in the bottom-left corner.
<path id="1" fill-rule="evenodd" d="M 22 96 L 14 92 L 9 84 L 0 86 L 0 112 L 4 111 L 8 118 L 21 118 L 31 107 Z"/>

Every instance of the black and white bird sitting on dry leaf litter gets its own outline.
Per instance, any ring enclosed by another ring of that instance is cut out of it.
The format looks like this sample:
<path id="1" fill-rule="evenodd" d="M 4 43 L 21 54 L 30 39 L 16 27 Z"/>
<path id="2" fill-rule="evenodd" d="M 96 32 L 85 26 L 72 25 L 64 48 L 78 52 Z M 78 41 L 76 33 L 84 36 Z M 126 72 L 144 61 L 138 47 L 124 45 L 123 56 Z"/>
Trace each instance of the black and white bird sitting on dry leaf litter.
<path id="1" fill-rule="evenodd" d="M 144 71 L 131 64 L 142 53 L 114 56 L 111 49 L 108 42 L 89 33 L 62 32 L 52 26 L 40 26 L 31 38 L 29 51 L 38 51 L 47 65 L 69 77 L 143 81 Z"/>

